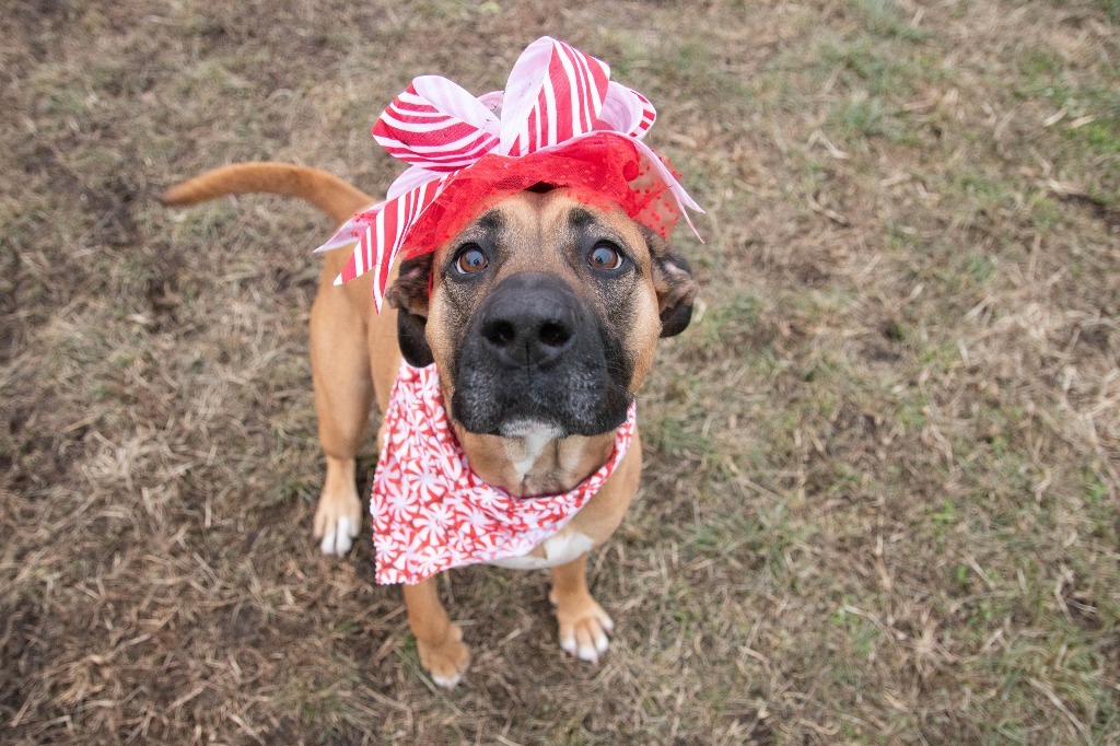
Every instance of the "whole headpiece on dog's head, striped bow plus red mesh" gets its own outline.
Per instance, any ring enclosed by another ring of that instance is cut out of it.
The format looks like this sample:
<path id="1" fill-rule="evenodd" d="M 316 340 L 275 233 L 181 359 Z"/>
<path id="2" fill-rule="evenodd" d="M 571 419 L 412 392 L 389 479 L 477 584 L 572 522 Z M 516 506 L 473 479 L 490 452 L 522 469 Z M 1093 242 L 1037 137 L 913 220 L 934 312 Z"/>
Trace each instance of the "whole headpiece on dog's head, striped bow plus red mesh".
<path id="1" fill-rule="evenodd" d="M 357 242 L 335 285 L 373 272 L 380 311 L 398 254 L 435 251 L 483 211 L 536 184 L 622 207 L 666 237 L 681 215 L 696 232 L 684 207 L 703 211 L 642 142 L 657 116 L 653 104 L 609 78 L 606 63 L 545 36 L 521 54 L 504 91 L 476 99 L 445 77 L 413 80 L 373 127 L 374 139 L 411 167 L 384 202 L 316 250 Z"/>

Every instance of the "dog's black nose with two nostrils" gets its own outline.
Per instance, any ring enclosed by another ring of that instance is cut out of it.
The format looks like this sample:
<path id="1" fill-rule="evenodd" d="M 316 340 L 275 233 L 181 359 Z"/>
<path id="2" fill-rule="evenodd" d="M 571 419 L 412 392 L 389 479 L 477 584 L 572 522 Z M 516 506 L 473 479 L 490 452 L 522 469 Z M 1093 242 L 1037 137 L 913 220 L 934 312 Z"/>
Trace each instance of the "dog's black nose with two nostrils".
<path id="1" fill-rule="evenodd" d="M 544 366 L 572 346 L 577 302 L 557 276 L 519 272 L 494 289 L 482 309 L 478 334 L 505 365 Z"/>

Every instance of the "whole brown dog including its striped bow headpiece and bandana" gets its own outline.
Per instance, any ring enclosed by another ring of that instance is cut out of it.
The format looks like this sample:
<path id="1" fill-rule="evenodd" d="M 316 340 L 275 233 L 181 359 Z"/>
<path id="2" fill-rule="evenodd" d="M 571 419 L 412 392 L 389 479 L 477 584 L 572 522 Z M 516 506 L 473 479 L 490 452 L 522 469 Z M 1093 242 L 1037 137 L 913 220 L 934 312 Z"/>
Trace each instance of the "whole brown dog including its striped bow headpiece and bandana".
<path id="1" fill-rule="evenodd" d="M 648 99 L 609 77 L 545 36 L 503 91 L 413 78 L 372 132 L 411 167 L 373 206 L 329 174 L 281 164 L 227 166 L 164 195 L 288 195 L 342 223 L 319 249 L 311 308 L 327 463 L 314 534 L 327 554 L 357 535 L 355 454 L 376 399 L 376 579 L 403 584 L 440 686 L 470 658 L 436 587 L 454 567 L 551 568 L 560 644 L 585 661 L 614 627 L 587 588 L 587 553 L 637 491 L 634 397 L 697 293 L 666 236 L 700 207 L 642 142 L 656 120 Z"/>

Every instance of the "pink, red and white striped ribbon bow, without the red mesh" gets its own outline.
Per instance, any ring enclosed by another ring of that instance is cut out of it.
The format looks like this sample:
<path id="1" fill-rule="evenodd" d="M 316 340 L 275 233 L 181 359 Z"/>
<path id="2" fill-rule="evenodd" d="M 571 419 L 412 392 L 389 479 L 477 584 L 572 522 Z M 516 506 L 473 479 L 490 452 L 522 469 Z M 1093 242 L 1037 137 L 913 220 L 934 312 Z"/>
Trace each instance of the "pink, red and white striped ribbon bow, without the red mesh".
<path id="1" fill-rule="evenodd" d="M 595 133 L 632 140 L 670 188 L 687 221 L 684 207 L 703 212 L 641 142 L 656 119 L 648 99 L 609 77 L 606 63 L 545 36 L 517 58 L 505 91 L 476 99 L 445 77 L 414 78 L 373 128 L 374 139 L 411 167 L 389 187 L 384 202 L 352 217 L 316 250 L 357 241 L 335 285 L 375 272 L 373 299 L 380 311 L 393 258 L 456 174 L 487 155 L 520 158 Z"/>

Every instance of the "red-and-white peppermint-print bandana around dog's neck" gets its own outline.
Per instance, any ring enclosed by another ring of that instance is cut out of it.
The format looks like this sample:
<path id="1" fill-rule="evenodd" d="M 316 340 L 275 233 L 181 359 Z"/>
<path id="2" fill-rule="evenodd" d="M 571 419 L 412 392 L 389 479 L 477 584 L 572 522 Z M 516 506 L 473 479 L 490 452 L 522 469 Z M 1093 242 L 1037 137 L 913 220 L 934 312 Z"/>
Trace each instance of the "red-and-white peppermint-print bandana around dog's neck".
<path id="1" fill-rule="evenodd" d="M 631 402 L 610 458 L 573 489 L 516 497 L 470 470 L 436 366 L 402 362 L 370 501 L 377 582 L 413 585 L 450 568 L 522 557 L 556 535 L 626 455 L 635 412 Z"/>

